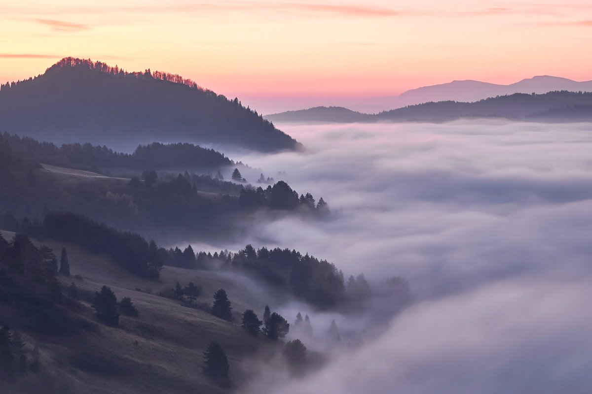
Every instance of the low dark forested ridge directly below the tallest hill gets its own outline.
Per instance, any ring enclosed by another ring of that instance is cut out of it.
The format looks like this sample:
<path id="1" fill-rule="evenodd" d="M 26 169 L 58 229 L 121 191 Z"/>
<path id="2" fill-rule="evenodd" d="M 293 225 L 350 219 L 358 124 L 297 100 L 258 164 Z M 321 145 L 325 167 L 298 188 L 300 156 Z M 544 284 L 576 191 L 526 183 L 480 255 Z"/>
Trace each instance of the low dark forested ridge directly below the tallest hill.
<path id="1" fill-rule="evenodd" d="M 38 162 L 67 168 L 130 168 L 131 170 L 221 168 L 236 163 L 214 149 L 198 145 L 155 142 L 140 145 L 133 154 L 115 152 L 107 146 L 64 144 L 59 148 L 51 142 L 4 133 L 13 149 L 25 152 Z"/>

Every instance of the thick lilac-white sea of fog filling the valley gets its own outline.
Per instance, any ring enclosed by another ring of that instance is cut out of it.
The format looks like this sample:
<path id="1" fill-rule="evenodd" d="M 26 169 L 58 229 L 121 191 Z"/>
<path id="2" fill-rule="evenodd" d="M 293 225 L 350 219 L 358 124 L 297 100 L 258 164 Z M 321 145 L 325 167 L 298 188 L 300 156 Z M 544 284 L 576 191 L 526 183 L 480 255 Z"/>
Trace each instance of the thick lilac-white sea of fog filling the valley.
<path id="1" fill-rule="evenodd" d="M 294 248 L 417 300 L 278 393 L 592 392 L 590 123 L 278 126 L 307 150 L 238 158 L 332 216 L 195 248 Z"/>

